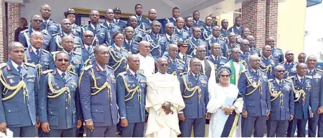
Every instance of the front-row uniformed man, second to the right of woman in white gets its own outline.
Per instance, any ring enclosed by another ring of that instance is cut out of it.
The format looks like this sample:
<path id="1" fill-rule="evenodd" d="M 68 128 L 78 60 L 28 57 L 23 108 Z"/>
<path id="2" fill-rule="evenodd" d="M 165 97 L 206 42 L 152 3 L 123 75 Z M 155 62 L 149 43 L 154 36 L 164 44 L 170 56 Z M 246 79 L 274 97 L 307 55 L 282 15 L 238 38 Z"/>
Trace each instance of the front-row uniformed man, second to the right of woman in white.
<path id="1" fill-rule="evenodd" d="M 274 79 L 269 79 L 271 112 L 267 121 L 267 137 L 285 137 L 288 123 L 294 118 L 293 85 L 284 79 L 284 67 L 276 66 Z"/>

